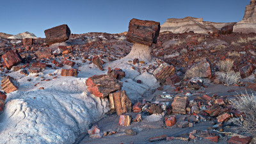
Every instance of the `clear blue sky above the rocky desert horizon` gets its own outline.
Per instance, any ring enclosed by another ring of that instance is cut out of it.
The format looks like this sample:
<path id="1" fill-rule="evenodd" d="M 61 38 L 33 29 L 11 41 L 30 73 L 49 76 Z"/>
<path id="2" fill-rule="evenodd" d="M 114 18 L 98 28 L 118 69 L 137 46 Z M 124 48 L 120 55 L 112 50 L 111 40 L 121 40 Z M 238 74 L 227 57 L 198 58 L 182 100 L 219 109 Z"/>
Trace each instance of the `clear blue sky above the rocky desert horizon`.
<path id="1" fill-rule="evenodd" d="M 250 0 L 0 0 L 0 32 L 45 37 L 45 29 L 68 24 L 71 33 L 121 33 L 132 18 L 238 22 L 247 4 Z"/>

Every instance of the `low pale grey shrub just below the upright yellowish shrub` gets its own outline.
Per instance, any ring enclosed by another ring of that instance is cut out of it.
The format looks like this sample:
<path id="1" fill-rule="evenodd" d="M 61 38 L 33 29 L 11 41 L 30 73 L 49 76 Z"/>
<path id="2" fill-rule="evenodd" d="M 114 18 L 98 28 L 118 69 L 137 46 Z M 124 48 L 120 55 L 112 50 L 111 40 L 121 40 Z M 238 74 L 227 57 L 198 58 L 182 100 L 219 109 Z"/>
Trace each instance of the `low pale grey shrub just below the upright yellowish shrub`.
<path id="1" fill-rule="evenodd" d="M 216 72 L 218 79 L 221 82 L 227 84 L 228 86 L 231 84 L 237 84 L 241 79 L 239 72 L 234 72 L 233 70 L 229 72 Z"/>

